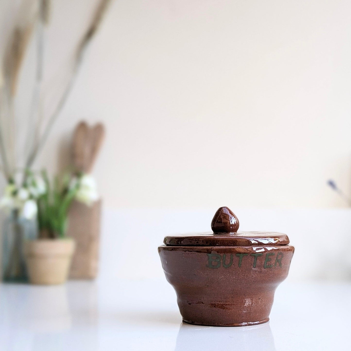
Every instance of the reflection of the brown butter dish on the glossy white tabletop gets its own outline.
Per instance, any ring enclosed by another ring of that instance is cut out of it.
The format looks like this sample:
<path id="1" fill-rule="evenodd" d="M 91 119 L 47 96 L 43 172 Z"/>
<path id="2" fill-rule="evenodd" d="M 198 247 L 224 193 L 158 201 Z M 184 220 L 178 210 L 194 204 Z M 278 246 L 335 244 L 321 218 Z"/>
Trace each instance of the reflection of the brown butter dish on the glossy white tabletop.
<path id="1" fill-rule="evenodd" d="M 174 351 L 252 351 L 258 345 L 263 346 L 264 350 L 276 350 L 269 322 L 244 327 L 210 327 L 182 323 Z"/>

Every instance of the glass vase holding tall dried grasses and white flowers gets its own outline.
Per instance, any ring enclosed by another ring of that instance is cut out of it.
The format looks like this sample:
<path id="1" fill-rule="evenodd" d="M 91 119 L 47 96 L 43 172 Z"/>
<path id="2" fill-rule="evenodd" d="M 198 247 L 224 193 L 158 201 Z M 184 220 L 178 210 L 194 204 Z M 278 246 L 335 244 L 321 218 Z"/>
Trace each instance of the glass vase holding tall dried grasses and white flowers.
<path id="1" fill-rule="evenodd" d="M 0 199 L 0 207 L 8 215 L 2 230 L 1 278 L 7 282 L 27 281 L 24 243 L 36 235 L 36 222 L 33 218 L 36 218 L 37 193 L 28 192 L 28 179 L 24 170 L 32 169 L 43 150 L 110 2 L 111 0 L 99 0 L 90 24 L 77 42 L 71 55 L 72 59 L 68 60 L 68 67 L 65 67 L 69 73 L 62 90 L 55 87 L 54 90 L 60 93 L 54 99 L 55 104 L 51 104 L 48 109 L 41 107 L 46 105 L 46 97 L 51 95 L 47 93 L 44 84 L 46 77 L 43 74 L 45 51 L 52 44 L 46 42 L 45 34 L 50 19 L 50 1 L 20 1 L 19 6 L 16 6 L 8 42 L 4 45 L 4 53 L 0 55 L 0 172 L 4 174 L 7 184 L 4 196 Z M 31 95 L 31 102 L 27 108 L 18 109 L 20 71 L 23 66 L 28 66 L 24 62 L 31 43 L 35 44 L 33 47 L 36 48 L 33 60 L 35 79 L 29 84 L 32 89 L 26 90 L 26 96 Z M 26 112 L 21 115 L 18 110 Z M 62 223 L 61 219 L 59 221 Z"/>

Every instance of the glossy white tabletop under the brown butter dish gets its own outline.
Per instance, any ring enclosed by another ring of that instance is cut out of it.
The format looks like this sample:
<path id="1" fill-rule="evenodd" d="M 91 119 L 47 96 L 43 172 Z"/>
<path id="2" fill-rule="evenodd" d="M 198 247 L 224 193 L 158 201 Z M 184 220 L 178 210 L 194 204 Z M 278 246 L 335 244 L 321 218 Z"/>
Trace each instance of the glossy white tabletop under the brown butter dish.
<path id="1" fill-rule="evenodd" d="M 269 323 L 206 327 L 181 322 L 162 280 L 0 286 L 0 349 L 349 350 L 351 283 L 283 282 Z"/>

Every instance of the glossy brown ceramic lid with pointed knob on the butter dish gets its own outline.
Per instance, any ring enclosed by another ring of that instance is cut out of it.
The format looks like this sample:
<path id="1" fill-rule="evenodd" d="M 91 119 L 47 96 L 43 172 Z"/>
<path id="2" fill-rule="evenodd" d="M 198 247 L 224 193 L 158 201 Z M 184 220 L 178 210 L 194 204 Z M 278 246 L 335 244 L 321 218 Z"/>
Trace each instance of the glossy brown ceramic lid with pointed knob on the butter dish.
<path id="1" fill-rule="evenodd" d="M 213 233 L 167 236 L 164 244 L 180 246 L 277 246 L 289 244 L 286 234 L 275 232 L 240 232 L 237 216 L 220 207 L 211 223 Z"/>

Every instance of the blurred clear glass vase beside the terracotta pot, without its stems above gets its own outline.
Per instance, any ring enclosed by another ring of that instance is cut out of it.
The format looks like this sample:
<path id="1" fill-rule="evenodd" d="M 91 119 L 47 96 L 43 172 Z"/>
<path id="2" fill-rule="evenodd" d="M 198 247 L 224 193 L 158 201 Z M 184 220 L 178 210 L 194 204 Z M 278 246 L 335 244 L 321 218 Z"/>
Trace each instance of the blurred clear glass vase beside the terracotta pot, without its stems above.
<path id="1" fill-rule="evenodd" d="M 24 245 L 26 240 L 37 238 L 37 221 L 19 217 L 13 210 L 2 227 L 2 280 L 27 282 L 28 274 Z"/>

